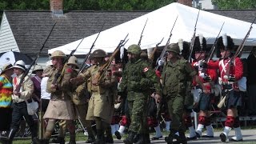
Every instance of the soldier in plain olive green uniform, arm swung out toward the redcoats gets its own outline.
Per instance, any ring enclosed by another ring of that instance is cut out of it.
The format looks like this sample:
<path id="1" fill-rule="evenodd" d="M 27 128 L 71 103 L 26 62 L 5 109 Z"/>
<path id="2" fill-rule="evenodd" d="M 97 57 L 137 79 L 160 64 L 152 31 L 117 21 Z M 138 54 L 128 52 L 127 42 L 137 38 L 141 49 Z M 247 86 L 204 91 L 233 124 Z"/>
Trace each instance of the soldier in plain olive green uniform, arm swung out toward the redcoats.
<path id="1" fill-rule="evenodd" d="M 202 90 L 206 90 L 206 88 L 202 85 L 202 82 L 198 80 L 197 72 L 190 63 L 179 56 L 180 50 L 178 43 L 170 44 L 166 52 L 168 55 L 167 62 L 165 62 L 162 71 L 162 94 L 167 100 L 172 121 L 170 134 L 165 140 L 170 144 L 173 142 L 173 138 L 177 138 L 177 143 L 186 143 L 182 111 L 184 108 L 188 78 L 193 77 L 196 79 L 198 84 L 202 86 Z M 179 136 L 176 133 L 178 133 Z"/>

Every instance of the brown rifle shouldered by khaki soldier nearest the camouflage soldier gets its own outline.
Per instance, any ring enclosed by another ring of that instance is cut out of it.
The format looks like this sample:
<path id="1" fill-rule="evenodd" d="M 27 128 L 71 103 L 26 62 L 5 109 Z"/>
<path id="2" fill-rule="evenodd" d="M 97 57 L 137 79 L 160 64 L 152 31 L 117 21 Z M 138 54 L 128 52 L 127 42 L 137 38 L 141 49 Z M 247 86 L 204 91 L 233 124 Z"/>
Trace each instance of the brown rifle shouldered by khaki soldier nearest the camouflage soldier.
<path id="1" fill-rule="evenodd" d="M 106 70 L 109 69 L 110 67 L 110 64 L 111 62 L 113 61 L 114 57 L 116 54 L 118 54 L 118 51 L 120 50 L 120 48 L 122 46 L 124 46 L 126 44 L 126 42 L 128 42 L 129 39 L 126 40 L 126 38 L 128 37 L 129 34 L 126 34 L 126 37 L 121 40 L 119 43 L 118 43 L 118 46 L 117 48 L 114 50 L 114 53 L 110 56 L 110 58 L 106 61 L 106 63 L 101 66 L 98 70 L 98 75 L 95 77 L 95 82 L 100 82 L 103 78 L 103 75 L 106 73 Z"/>

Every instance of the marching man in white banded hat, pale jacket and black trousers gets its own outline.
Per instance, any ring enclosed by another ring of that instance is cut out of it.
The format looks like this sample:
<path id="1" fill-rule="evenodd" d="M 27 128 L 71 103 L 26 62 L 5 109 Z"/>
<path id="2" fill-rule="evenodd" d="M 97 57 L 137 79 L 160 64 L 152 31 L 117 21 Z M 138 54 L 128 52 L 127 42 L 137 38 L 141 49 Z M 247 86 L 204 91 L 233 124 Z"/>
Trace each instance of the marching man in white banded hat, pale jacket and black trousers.
<path id="1" fill-rule="evenodd" d="M 8 134 L 8 138 L 4 140 L 6 143 L 12 143 L 14 136 L 18 131 L 21 119 L 23 117 L 25 118 L 28 126 L 30 126 L 32 139 L 37 136 L 37 132 L 34 125 L 34 119 L 32 118 L 32 115 L 28 114 L 26 106 L 26 101 L 30 102 L 34 91 L 33 82 L 28 76 L 26 76 L 21 86 L 19 86 L 22 75 L 26 71 L 25 65 L 25 62 L 23 62 L 22 60 L 18 60 L 14 63 L 14 66 L 12 66 L 12 68 L 14 69 L 14 74 L 16 74 L 17 76 L 13 78 L 13 113 L 12 122 L 10 126 L 10 133 Z"/>

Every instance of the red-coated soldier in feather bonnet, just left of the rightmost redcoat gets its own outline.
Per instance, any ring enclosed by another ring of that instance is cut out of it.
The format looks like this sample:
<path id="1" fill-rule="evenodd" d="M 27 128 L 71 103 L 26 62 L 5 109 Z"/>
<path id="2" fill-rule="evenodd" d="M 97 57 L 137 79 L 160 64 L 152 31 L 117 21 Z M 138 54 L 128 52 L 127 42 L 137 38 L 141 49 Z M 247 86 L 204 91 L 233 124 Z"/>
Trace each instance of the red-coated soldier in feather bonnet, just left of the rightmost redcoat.
<path id="1" fill-rule="evenodd" d="M 199 34 L 194 40 L 194 62 L 192 62 L 192 66 L 198 71 L 199 80 L 206 86 L 206 89 L 211 91 L 212 86 L 214 86 L 214 82 L 217 79 L 217 71 L 216 69 L 206 69 L 202 66 L 202 61 L 204 61 L 207 57 L 207 53 L 209 53 L 210 48 L 206 46 L 206 38 Z M 214 129 L 210 122 L 210 101 L 212 94 L 206 94 L 202 92 L 201 87 L 198 87 L 198 83 L 193 81 L 194 86 L 194 99 L 195 107 L 194 111 L 199 112 L 199 123 L 198 129 L 196 130 L 197 137 L 203 138 L 214 138 Z M 206 126 L 206 135 L 202 136 L 202 130 Z M 192 130 L 193 131 L 193 130 Z"/>

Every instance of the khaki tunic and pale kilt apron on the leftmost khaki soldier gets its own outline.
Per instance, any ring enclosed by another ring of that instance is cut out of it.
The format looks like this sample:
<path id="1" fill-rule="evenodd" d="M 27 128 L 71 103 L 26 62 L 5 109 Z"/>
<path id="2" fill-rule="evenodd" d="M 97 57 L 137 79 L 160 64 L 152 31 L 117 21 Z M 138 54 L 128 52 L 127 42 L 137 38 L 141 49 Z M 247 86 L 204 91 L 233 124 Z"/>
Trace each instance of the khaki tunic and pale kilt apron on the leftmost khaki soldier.
<path id="1" fill-rule="evenodd" d="M 54 69 L 49 76 L 46 90 L 51 93 L 51 99 L 43 118 L 73 120 L 77 117 L 74 104 L 70 100 L 71 91 L 74 90 L 73 85 L 70 83 L 70 78 L 74 78 L 76 75 L 74 70 L 68 66 L 64 66 L 63 69 L 64 75 L 58 82 L 57 89 L 51 89 L 50 85 L 54 81 L 54 76 L 58 73 L 58 70 Z"/>

